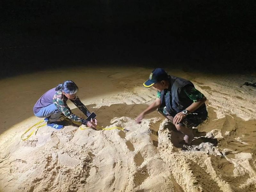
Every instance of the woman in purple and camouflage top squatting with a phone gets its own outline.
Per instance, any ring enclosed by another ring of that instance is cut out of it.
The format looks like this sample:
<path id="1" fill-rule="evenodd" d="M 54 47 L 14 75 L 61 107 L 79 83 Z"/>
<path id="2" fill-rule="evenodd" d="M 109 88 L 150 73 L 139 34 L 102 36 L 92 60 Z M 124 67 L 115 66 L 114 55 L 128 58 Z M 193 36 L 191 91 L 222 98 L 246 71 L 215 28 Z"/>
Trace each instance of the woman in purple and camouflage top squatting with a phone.
<path id="1" fill-rule="evenodd" d="M 62 129 L 63 125 L 57 123 L 61 113 L 72 121 L 78 121 L 88 127 L 96 128 L 97 120 L 87 121 L 72 113 L 67 105 L 67 100 L 71 100 L 77 108 L 79 108 L 87 117 L 90 115 L 88 109 L 80 101 L 76 95 L 78 87 L 73 81 L 67 80 L 63 84 L 59 84 L 56 88 L 52 88 L 36 102 L 33 112 L 35 116 L 44 118 L 47 126 L 54 129 Z"/>

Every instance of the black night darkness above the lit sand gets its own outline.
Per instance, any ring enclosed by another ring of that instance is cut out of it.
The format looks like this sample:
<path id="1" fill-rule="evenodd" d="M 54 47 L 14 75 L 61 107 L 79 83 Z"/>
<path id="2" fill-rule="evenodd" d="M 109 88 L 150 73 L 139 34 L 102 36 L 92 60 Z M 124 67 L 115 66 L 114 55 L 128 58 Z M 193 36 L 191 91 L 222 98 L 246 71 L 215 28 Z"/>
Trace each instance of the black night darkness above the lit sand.
<path id="1" fill-rule="evenodd" d="M 68 66 L 256 69 L 255 1 L 0 2 L 1 77 Z"/>

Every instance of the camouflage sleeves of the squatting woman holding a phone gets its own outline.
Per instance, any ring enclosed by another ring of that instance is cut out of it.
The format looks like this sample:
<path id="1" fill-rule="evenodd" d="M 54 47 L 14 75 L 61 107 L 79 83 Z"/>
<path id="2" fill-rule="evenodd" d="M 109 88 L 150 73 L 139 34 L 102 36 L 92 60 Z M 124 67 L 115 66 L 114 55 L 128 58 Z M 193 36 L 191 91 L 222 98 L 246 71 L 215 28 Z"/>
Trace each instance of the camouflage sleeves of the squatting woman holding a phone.
<path id="1" fill-rule="evenodd" d="M 87 120 L 76 116 L 68 107 L 67 105 L 67 100 L 68 98 L 62 94 L 61 91 L 57 91 L 55 93 L 55 95 L 53 96 L 53 103 L 55 104 L 55 106 L 69 119 L 71 119 L 72 121 L 78 121 L 82 124 L 87 124 Z M 75 99 L 70 100 L 72 103 L 74 103 L 76 105 L 77 108 L 80 109 L 80 111 L 82 111 L 84 113 L 84 115 L 89 116 L 90 112 L 88 111 L 88 109 L 84 106 L 84 104 L 80 101 L 80 99 L 78 98 L 78 96 L 76 95 Z"/>

